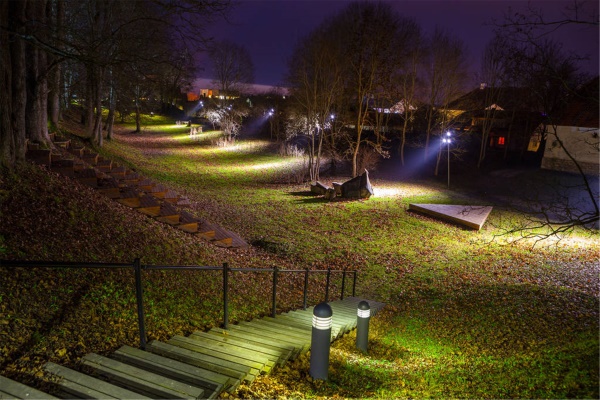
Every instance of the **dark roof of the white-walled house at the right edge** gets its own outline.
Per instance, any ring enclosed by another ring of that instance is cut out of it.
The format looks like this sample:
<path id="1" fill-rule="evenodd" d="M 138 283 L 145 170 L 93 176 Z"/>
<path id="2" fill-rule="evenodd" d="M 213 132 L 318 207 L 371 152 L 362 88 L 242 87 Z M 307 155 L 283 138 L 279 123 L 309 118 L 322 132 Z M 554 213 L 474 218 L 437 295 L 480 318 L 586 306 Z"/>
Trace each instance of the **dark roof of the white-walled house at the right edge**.
<path id="1" fill-rule="evenodd" d="M 599 127 L 598 84 L 599 77 L 596 77 L 573 95 L 558 121 L 559 126 Z"/>

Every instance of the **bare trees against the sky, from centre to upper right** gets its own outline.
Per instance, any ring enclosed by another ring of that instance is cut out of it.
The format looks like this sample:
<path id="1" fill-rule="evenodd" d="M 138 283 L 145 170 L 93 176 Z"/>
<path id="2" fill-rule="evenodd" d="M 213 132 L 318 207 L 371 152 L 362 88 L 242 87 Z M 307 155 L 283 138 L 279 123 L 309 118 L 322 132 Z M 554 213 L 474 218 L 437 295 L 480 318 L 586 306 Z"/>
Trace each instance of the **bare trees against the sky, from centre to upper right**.
<path id="1" fill-rule="evenodd" d="M 540 32 L 562 24 L 597 26 L 597 15 L 585 14 L 579 2 L 573 4 L 565 10 L 572 19 L 546 21 L 530 8 L 522 14 L 509 12 L 496 24 L 479 73 L 487 85 L 487 103 L 497 101 L 506 87 L 527 88 L 517 99 L 519 106 L 538 115 L 543 126 L 558 121 L 567 100 L 590 77 L 579 72 L 580 56 Z M 325 156 L 349 160 L 353 176 L 393 150 L 404 164 L 409 141 L 421 146 L 428 159 L 432 138 L 457 122 L 447 111 L 464 94 L 466 60 L 464 43 L 451 32 L 436 28 L 427 35 L 388 3 L 351 3 L 296 45 L 287 78 L 291 101 L 276 113 L 272 130 L 281 141 L 306 137 L 311 180 L 319 178 Z M 401 108 L 399 114 L 381 112 L 394 105 Z M 490 121 L 497 112 L 484 111 L 478 167 L 486 159 Z M 544 140 L 548 133 L 544 131 Z M 392 140 L 399 143 L 397 148 L 391 148 Z M 438 150 L 436 145 L 439 164 Z"/>

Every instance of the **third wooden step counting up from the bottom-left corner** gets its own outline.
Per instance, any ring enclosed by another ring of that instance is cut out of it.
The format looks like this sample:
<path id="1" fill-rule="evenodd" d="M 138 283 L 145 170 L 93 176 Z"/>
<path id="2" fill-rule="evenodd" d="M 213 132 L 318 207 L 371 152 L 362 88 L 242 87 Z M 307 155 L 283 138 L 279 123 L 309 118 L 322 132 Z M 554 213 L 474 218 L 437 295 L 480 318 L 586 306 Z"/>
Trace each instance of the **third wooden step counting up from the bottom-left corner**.
<path id="1" fill-rule="evenodd" d="M 90 353 L 81 359 L 94 371 L 150 397 L 166 399 L 197 399 L 204 396 L 204 390 L 187 383 L 179 382 L 153 372 L 134 367 L 123 362 L 113 360 L 98 354 Z"/>

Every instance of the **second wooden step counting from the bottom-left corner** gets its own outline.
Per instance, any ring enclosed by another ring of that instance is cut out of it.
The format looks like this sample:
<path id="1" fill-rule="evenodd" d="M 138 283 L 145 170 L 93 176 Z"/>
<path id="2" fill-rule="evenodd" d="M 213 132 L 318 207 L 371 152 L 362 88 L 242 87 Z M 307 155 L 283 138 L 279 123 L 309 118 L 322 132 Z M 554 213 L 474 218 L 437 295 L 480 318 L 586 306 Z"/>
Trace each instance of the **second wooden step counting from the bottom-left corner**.
<path id="1" fill-rule="evenodd" d="M 44 369 L 60 380 L 56 383 L 65 398 L 82 399 L 148 399 L 140 393 L 124 389 L 98 378 L 63 367 L 52 362 L 46 363 Z"/>

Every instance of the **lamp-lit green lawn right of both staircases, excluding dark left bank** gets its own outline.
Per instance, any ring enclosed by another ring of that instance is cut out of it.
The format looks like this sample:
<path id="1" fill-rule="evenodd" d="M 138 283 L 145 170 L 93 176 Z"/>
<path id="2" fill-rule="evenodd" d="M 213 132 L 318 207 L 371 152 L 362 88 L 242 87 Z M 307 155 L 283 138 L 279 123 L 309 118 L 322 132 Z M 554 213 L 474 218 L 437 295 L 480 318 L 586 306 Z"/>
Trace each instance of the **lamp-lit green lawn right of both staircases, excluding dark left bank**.
<path id="1" fill-rule="evenodd" d="M 597 238 L 550 250 L 501 245 L 510 238 L 496 237 L 496 225 L 522 216 L 495 209 L 474 232 L 407 212 L 409 203 L 478 202 L 428 182 L 374 178 L 368 201 L 326 202 L 307 196 L 307 184 L 276 183 L 301 159 L 263 141 L 217 147 L 219 136 L 157 129 L 105 150 L 185 190 L 197 213 L 273 257 L 357 268 L 360 295 L 389 307 L 373 321 L 368 356 L 353 335 L 334 343 L 329 382 L 309 382 L 304 359 L 258 379 L 291 389 L 250 387 L 247 397 L 598 397 Z M 252 315 L 243 307 L 240 316 Z"/>

